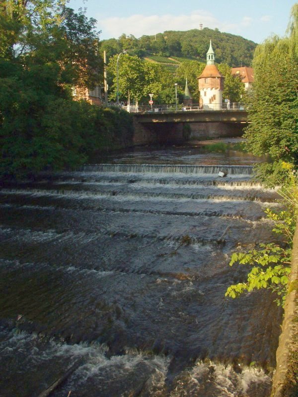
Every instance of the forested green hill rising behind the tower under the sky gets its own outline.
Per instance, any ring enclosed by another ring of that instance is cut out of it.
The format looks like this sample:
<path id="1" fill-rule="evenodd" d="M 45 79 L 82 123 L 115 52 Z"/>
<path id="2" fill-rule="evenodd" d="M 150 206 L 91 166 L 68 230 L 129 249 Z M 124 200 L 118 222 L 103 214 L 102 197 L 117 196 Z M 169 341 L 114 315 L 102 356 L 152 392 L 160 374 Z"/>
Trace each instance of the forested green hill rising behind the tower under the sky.
<path id="1" fill-rule="evenodd" d="M 257 44 L 218 29 L 165 31 L 139 39 L 123 34 L 119 39 L 103 40 L 101 49 L 106 50 L 108 58 L 126 50 L 130 55 L 138 55 L 149 62 L 157 62 L 174 69 L 183 60 L 205 63 L 210 40 L 217 63 L 225 63 L 231 67 L 251 66 Z"/>

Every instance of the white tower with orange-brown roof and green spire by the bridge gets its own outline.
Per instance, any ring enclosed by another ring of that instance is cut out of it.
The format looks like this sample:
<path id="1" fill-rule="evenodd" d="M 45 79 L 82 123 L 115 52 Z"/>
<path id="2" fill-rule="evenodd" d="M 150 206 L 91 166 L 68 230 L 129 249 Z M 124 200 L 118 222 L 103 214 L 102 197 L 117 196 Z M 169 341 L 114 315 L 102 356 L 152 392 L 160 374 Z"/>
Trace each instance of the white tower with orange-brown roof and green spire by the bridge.
<path id="1" fill-rule="evenodd" d="M 200 106 L 206 110 L 220 110 L 223 103 L 224 76 L 215 65 L 215 53 L 210 47 L 207 52 L 207 65 L 198 77 Z"/>

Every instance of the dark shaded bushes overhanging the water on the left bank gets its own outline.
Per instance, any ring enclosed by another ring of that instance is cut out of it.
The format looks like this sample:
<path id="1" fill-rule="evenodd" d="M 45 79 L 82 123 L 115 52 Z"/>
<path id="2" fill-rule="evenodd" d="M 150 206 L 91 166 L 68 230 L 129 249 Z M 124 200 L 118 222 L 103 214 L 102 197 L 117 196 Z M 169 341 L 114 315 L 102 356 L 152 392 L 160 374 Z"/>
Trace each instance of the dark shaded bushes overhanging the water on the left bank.
<path id="1" fill-rule="evenodd" d="M 0 178 L 74 168 L 96 152 L 129 145 L 132 116 L 56 96 L 31 79 L 0 79 Z"/>

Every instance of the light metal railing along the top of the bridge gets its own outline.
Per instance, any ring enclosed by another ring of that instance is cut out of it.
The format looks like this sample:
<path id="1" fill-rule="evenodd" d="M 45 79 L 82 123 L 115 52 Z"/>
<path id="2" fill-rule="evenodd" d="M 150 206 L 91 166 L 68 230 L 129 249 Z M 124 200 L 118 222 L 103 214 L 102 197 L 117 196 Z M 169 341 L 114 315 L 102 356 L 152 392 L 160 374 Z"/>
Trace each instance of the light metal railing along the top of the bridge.
<path id="1" fill-rule="evenodd" d="M 128 105 L 122 106 L 121 109 L 126 110 L 130 113 L 144 113 L 144 112 L 175 112 L 176 105 Z M 242 103 L 231 102 L 231 103 L 210 103 L 207 105 L 200 106 L 198 103 L 183 105 L 177 104 L 177 112 L 201 112 L 208 110 L 245 110 Z"/>

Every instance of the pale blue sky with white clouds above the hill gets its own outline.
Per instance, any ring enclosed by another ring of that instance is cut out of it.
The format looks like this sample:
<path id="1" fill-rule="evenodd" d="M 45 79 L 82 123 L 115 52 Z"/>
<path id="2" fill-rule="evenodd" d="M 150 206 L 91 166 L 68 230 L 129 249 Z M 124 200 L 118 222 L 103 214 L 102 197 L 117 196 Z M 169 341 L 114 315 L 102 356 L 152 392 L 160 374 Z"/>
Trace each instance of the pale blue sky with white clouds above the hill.
<path id="1" fill-rule="evenodd" d="M 122 33 L 139 38 L 165 30 L 210 29 L 261 43 L 271 34 L 286 34 L 294 0 L 70 0 L 97 20 L 100 39 Z"/>

